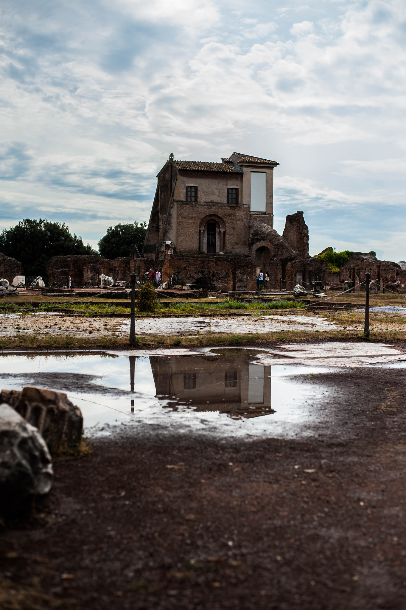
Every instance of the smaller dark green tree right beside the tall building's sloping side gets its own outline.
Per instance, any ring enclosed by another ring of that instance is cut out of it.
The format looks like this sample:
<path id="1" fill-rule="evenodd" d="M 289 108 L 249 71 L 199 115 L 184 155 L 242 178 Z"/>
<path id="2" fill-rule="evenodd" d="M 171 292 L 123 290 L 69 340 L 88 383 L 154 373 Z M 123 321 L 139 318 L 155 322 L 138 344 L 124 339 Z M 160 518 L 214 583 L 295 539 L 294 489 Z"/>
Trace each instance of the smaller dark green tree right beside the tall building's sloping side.
<path id="1" fill-rule="evenodd" d="M 135 244 L 141 253 L 145 235 L 146 223 L 116 224 L 114 228 L 109 227 L 99 240 L 99 252 L 106 259 L 130 256 L 131 246 Z"/>

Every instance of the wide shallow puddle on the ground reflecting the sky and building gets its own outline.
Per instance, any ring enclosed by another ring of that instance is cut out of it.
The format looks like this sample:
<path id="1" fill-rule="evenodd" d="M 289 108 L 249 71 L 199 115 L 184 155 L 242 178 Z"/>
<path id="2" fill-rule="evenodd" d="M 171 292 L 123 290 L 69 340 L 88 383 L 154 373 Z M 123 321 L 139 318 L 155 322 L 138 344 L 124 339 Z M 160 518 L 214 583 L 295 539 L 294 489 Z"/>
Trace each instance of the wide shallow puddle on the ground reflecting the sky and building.
<path id="1" fill-rule="evenodd" d="M 366 365 L 405 366 L 384 344 L 285 345 L 0 355 L 0 387 L 66 392 L 84 414 L 85 434 L 169 432 L 236 437 L 314 434 L 331 386 L 305 376 Z M 392 364 L 391 364 L 392 363 Z M 308 380 L 308 378 L 307 378 Z M 134 401 L 134 413 L 131 412 Z"/>

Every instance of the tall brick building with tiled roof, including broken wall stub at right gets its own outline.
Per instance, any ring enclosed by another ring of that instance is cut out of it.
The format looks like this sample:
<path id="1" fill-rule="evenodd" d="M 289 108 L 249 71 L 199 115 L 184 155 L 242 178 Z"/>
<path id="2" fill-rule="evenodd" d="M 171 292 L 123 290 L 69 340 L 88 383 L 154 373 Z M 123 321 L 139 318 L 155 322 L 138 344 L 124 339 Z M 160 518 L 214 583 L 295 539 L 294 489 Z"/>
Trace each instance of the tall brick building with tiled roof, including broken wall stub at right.
<path id="1" fill-rule="evenodd" d="M 162 268 L 182 284 L 219 290 L 255 289 L 257 270 L 279 286 L 288 262 L 308 256 L 303 213 L 273 228 L 273 172 L 279 163 L 233 152 L 221 163 L 177 161 L 170 155 L 158 184 L 138 274 Z"/>

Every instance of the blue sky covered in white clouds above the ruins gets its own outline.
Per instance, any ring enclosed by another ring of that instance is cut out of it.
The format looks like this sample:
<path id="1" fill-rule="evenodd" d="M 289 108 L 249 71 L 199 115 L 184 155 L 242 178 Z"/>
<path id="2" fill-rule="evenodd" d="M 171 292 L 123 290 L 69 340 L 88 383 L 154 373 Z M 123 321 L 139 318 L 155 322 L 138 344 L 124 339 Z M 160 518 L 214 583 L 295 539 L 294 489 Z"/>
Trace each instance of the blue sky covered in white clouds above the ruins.
<path id="1" fill-rule="evenodd" d="M 96 246 L 147 220 L 157 171 L 273 159 L 275 228 L 406 259 L 406 3 L 2 0 L 0 229 Z"/>

